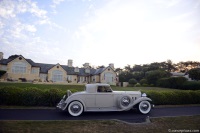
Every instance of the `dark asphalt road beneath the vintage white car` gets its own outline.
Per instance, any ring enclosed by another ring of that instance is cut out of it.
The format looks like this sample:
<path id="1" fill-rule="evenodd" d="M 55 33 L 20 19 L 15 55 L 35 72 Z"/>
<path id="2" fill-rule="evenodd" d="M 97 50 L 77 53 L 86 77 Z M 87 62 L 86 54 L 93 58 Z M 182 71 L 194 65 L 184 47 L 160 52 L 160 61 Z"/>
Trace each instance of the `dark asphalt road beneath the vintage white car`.
<path id="1" fill-rule="evenodd" d="M 130 123 L 145 122 L 149 117 L 169 117 L 200 115 L 200 106 L 154 108 L 147 115 L 136 111 L 126 112 L 87 112 L 72 117 L 57 109 L 0 109 L 0 120 L 111 120 L 117 119 Z"/>

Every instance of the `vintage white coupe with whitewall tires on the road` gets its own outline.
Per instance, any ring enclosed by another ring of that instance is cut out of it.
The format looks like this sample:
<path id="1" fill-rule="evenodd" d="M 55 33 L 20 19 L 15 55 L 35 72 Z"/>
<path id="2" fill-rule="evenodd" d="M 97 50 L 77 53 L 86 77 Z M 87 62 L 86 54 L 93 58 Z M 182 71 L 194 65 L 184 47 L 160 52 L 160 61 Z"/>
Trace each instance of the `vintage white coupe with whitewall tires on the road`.
<path id="1" fill-rule="evenodd" d="M 113 91 L 109 84 L 86 84 L 82 92 L 63 96 L 57 108 L 68 110 L 72 116 L 79 116 L 83 112 L 127 111 L 138 108 L 142 114 L 150 112 L 151 99 L 140 91 Z"/>

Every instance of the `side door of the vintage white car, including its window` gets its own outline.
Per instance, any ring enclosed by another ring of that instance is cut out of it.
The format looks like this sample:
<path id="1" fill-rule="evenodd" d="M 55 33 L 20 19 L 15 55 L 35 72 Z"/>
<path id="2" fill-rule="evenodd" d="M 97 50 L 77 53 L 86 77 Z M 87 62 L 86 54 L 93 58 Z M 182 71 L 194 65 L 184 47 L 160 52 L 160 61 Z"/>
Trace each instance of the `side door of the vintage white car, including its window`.
<path id="1" fill-rule="evenodd" d="M 96 94 L 96 107 L 107 108 L 114 107 L 114 94 L 108 91 L 109 86 L 98 86 Z"/>

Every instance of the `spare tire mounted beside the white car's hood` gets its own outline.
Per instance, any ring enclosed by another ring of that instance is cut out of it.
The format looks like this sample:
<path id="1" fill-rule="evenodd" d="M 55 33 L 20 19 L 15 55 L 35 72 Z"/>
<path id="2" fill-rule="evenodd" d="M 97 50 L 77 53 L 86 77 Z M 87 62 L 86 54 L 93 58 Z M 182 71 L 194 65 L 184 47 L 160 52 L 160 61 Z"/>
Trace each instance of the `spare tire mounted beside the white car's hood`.
<path id="1" fill-rule="evenodd" d="M 132 103 L 132 99 L 129 95 L 122 95 L 118 99 L 118 106 L 120 109 L 126 109 Z"/>

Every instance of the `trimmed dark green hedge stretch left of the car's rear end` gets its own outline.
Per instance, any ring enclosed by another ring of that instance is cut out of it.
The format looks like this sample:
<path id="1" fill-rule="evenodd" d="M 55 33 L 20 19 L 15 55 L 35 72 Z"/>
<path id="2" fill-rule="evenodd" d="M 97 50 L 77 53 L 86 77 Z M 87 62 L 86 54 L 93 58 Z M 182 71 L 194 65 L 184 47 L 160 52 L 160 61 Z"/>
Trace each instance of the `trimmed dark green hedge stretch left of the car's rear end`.
<path id="1" fill-rule="evenodd" d="M 64 94 L 60 89 L 3 87 L 0 88 L 0 105 L 56 106 Z"/>

